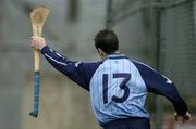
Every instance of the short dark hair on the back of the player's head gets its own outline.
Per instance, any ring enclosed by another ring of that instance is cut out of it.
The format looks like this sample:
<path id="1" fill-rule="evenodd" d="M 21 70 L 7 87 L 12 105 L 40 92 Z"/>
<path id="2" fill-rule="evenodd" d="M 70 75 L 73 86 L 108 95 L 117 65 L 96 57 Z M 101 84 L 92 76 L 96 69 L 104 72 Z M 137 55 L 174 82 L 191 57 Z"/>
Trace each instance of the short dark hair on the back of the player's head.
<path id="1" fill-rule="evenodd" d="M 109 29 L 100 30 L 95 36 L 96 49 L 101 49 L 103 52 L 111 54 L 119 49 L 119 40 L 114 31 Z"/>

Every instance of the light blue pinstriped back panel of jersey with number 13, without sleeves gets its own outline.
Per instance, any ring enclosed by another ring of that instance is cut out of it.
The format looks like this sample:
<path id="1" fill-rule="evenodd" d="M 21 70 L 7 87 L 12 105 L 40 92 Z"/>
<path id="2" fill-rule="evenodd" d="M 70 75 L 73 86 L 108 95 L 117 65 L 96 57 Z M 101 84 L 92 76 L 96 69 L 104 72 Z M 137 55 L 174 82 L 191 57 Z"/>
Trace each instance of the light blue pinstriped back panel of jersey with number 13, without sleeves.
<path id="1" fill-rule="evenodd" d="M 144 104 L 146 85 L 127 57 L 108 56 L 90 81 L 90 99 L 99 122 L 131 116 L 149 117 Z"/>

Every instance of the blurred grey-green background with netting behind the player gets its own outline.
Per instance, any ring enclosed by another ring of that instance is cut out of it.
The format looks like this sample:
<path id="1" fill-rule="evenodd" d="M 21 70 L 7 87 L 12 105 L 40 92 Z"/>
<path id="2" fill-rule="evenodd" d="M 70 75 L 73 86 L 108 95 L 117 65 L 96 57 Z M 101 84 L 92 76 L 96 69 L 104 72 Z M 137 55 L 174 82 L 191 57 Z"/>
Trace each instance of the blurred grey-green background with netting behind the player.
<path id="1" fill-rule="evenodd" d="M 171 103 L 149 94 L 146 107 L 156 129 L 196 128 L 195 0 L 1 0 L 0 129 L 99 129 L 88 92 L 54 70 L 41 56 L 40 113 L 33 108 L 34 61 L 29 12 L 51 10 L 44 37 L 71 60 L 99 60 L 94 36 L 111 28 L 121 51 L 172 79 L 193 120 L 174 122 Z"/>

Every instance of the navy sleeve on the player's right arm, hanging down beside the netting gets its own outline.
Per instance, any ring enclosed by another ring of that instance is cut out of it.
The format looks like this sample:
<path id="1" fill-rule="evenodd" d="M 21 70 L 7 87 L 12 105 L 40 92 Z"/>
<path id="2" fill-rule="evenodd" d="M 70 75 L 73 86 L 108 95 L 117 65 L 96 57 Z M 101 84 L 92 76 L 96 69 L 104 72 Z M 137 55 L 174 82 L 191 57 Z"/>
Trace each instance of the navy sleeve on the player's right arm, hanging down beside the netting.
<path id="1" fill-rule="evenodd" d="M 143 63 L 135 61 L 133 63 L 138 68 L 148 92 L 169 99 L 179 115 L 184 115 L 187 112 L 186 103 L 180 96 L 174 83 L 170 79 Z"/>

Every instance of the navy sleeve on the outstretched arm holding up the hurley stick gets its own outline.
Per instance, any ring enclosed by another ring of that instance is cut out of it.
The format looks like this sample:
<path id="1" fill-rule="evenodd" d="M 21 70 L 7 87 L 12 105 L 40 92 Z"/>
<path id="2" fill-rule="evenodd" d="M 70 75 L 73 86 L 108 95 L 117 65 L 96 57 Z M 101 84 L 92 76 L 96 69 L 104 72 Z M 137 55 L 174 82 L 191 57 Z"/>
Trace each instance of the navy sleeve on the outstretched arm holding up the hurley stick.
<path id="1" fill-rule="evenodd" d="M 99 66 L 99 62 L 85 63 L 70 61 L 68 57 L 50 49 L 48 46 L 42 48 L 41 53 L 57 70 L 66 75 L 82 88 L 89 90 L 91 76 Z"/>

